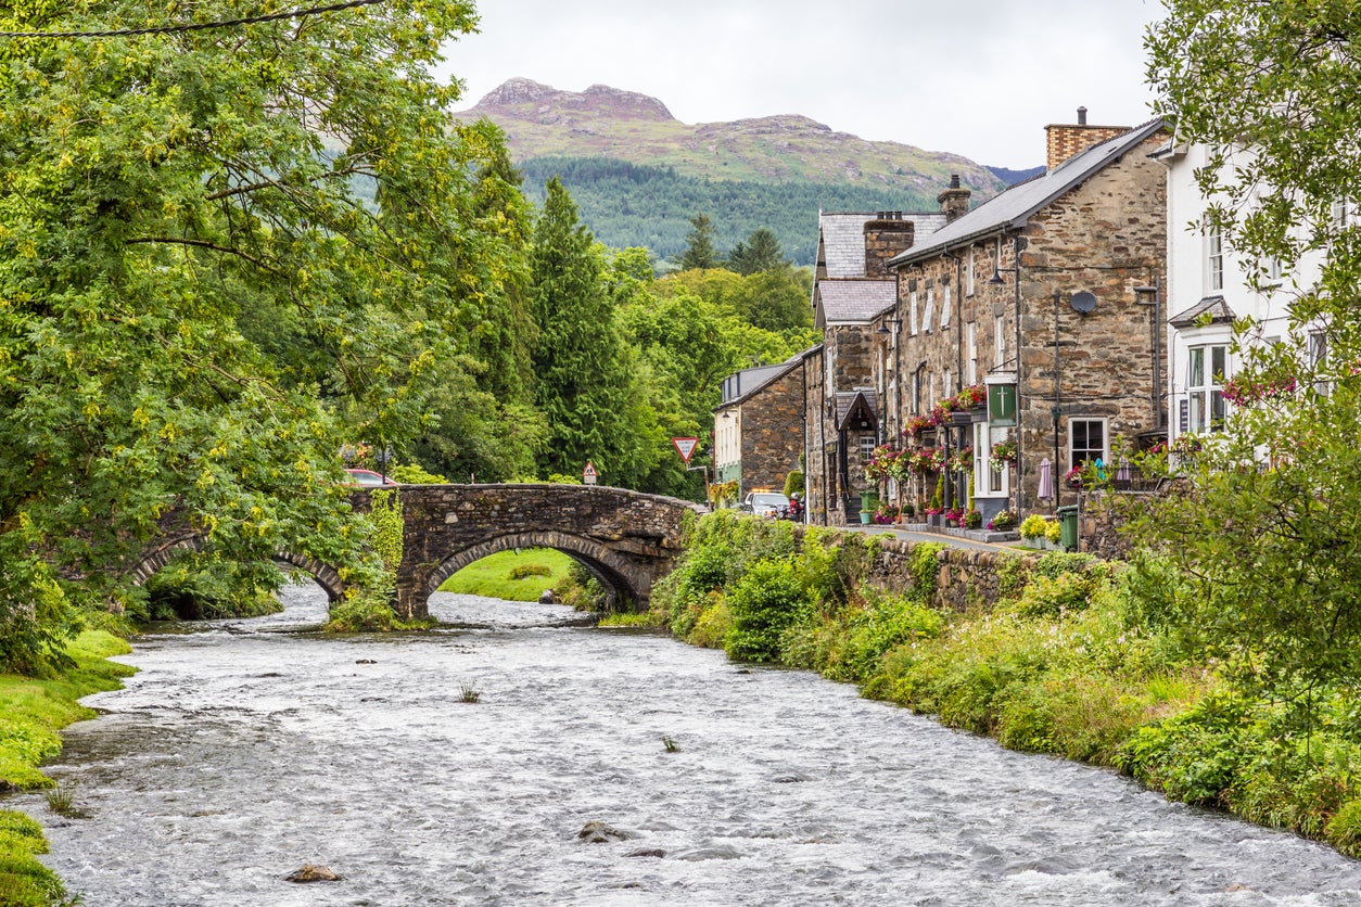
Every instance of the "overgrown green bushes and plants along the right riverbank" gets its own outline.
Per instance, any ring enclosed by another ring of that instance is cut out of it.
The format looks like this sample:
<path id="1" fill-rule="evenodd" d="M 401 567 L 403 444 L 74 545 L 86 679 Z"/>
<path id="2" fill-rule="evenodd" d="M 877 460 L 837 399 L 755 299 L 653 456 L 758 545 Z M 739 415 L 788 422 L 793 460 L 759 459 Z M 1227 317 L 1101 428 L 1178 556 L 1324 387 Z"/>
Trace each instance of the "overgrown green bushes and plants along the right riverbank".
<path id="1" fill-rule="evenodd" d="M 942 613 L 927 606 L 939 545 L 917 547 L 902 596 L 866 582 L 875 545 L 712 514 L 653 590 L 652 619 L 732 658 L 818 670 L 1011 749 L 1111 766 L 1361 857 L 1356 698 L 1316 691 L 1305 733 L 1298 710 L 1234 689 L 1169 613 L 1157 563 L 1003 553 L 1000 601 Z"/>

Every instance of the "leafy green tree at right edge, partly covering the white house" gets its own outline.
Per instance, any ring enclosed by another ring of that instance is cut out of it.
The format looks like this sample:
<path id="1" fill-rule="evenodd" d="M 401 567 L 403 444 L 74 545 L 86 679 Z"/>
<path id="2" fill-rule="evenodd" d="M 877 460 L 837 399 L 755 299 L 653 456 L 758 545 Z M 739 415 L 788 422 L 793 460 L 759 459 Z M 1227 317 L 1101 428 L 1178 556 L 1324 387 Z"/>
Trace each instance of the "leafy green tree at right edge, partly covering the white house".
<path id="1" fill-rule="evenodd" d="M 1248 261 L 1322 262 L 1290 301 L 1286 343 L 1248 343 L 1253 325 L 1239 325 L 1243 405 L 1141 526 L 1185 578 L 1183 623 L 1305 717 L 1322 689 L 1361 687 L 1358 38 L 1350 0 L 1169 0 L 1147 39 L 1176 140 L 1211 150 L 1198 171 L 1210 223 Z"/>

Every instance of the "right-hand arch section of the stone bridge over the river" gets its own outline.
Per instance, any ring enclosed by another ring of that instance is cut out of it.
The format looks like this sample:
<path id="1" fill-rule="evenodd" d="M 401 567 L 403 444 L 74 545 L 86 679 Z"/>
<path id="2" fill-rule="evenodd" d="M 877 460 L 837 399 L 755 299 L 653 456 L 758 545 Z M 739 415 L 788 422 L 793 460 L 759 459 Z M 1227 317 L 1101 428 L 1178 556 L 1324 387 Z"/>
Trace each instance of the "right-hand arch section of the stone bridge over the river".
<path id="1" fill-rule="evenodd" d="M 700 504 L 625 488 L 559 484 L 397 485 L 403 559 L 397 611 L 427 613 L 430 593 L 468 564 L 513 548 L 555 548 L 592 572 L 611 609 L 646 606 L 680 553 L 685 515 Z M 370 490 L 355 491 L 369 510 Z M 328 590 L 329 592 L 329 590 Z"/>

